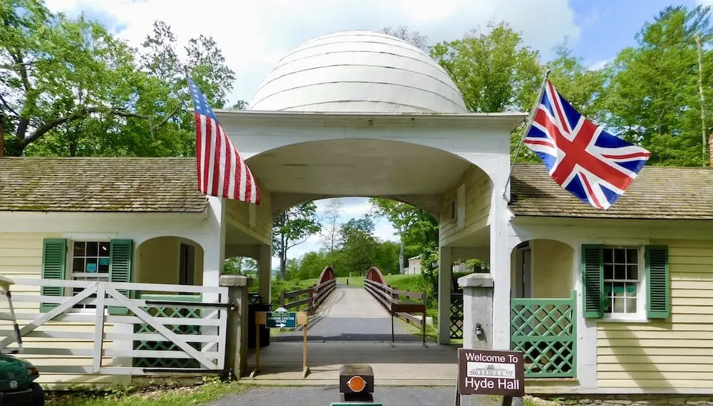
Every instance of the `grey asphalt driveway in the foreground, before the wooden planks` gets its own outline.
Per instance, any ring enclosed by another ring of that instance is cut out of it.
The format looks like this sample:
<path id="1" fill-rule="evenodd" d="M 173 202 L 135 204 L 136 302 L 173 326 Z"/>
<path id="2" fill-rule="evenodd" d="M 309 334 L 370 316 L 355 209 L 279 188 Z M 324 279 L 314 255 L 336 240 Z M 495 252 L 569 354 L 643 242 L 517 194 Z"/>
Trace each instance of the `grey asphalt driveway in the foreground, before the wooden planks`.
<path id="1" fill-rule="evenodd" d="M 455 385 L 454 385 L 455 386 Z M 384 406 L 453 406 L 455 387 L 376 387 L 374 402 Z M 250 387 L 228 395 L 210 406 L 329 406 L 339 402 L 339 387 Z M 468 405 L 466 402 L 465 405 Z M 471 405 L 498 406 L 489 396 L 471 398 Z"/>

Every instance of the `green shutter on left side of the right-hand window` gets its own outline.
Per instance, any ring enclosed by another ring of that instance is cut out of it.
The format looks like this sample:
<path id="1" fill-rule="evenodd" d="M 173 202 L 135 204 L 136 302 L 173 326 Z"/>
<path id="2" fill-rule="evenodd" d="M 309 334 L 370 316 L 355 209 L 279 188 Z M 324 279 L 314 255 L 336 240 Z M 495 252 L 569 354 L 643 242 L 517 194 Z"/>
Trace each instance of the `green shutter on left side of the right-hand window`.
<path id="1" fill-rule="evenodd" d="M 601 245 L 584 244 L 582 246 L 582 276 L 585 318 L 604 316 L 603 250 Z"/>

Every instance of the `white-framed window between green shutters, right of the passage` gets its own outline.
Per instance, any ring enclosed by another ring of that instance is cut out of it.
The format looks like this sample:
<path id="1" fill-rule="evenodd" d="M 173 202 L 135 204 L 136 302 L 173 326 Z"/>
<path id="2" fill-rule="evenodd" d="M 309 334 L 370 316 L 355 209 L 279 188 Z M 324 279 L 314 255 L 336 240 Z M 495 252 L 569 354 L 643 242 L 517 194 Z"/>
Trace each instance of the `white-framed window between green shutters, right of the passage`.
<path id="1" fill-rule="evenodd" d="M 646 267 L 644 250 L 638 246 L 604 246 L 602 281 L 604 318 L 646 319 Z"/>

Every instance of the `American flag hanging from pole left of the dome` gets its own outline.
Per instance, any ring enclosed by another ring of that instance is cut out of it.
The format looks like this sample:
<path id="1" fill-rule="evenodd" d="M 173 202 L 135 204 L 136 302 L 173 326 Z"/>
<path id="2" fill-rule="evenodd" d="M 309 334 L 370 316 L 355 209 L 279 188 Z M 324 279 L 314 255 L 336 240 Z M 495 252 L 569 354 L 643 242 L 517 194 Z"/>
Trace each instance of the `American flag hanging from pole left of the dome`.
<path id="1" fill-rule="evenodd" d="M 205 96 L 190 78 L 188 88 L 195 111 L 198 189 L 210 196 L 260 204 L 260 189 L 250 168 L 223 131 Z"/>

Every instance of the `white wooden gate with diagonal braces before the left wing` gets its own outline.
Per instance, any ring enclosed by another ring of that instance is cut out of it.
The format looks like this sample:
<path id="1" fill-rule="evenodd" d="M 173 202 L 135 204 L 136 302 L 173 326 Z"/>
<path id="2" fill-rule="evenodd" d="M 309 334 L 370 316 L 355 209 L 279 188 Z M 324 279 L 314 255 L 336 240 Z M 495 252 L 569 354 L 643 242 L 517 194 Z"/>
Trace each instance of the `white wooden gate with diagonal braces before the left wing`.
<path id="1" fill-rule="evenodd" d="M 43 373 L 164 375 L 224 370 L 230 308 L 227 288 L 54 279 L 15 282 L 12 301 L 24 341 L 23 354 L 78 360 L 72 365 L 46 363 Z M 74 294 L 42 296 L 41 287 L 64 288 Z M 128 296 L 121 291 L 128 291 Z M 39 303 L 56 307 L 39 313 Z M 96 307 L 76 309 L 80 304 Z M 109 308 L 126 308 L 128 312 L 115 316 Z M 9 320 L 9 313 L 0 312 L 1 328 L 7 328 L 0 330 L 3 353 L 16 348 Z M 146 343 L 153 349 L 138 349 Z M 137 360 L 151 360 L 158 367 L 150 363 L 141 366 Z M 195 366 L 186 368 L 185 361 Z"/>

